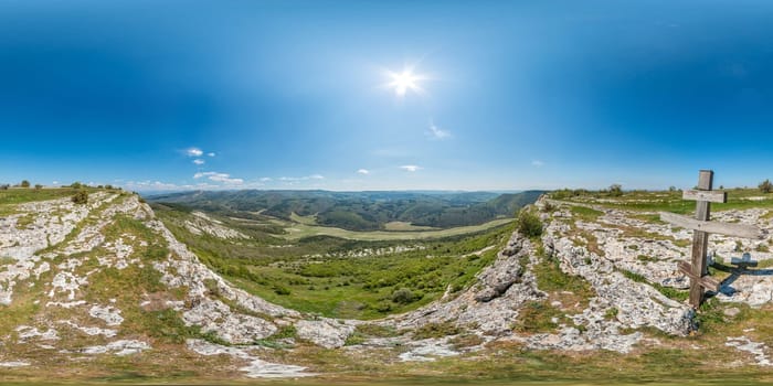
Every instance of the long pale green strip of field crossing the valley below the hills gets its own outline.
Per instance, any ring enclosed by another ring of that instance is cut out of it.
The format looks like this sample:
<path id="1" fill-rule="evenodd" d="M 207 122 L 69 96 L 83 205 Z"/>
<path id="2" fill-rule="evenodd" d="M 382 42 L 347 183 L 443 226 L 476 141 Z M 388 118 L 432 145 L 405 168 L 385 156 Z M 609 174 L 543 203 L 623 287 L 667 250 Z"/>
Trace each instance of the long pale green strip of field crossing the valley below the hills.
<path id="1" fill-rule="evenodd" d="M 470 233 L 488 230 L 494 227 L 511 223 L 515 218 L 499 218 L 480 225 L 459 226 L 448 229 L 437 230 L 372 230 L 372 232 L 354 232 L 330 226 L 308 225 L 307 223 L 290 223 L 282 219 L 272 219 L 276 225 L 279 225 L 287 230 L 286 235 L 280 235 L 288 240 L 297 240 L 300 238 L 313 236 L 331 236 L 361 242 L 379 242 L 379 240 L 419 240 L 427 238 L 443 238 L 449 236 L 459 236 Z"/>

